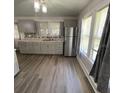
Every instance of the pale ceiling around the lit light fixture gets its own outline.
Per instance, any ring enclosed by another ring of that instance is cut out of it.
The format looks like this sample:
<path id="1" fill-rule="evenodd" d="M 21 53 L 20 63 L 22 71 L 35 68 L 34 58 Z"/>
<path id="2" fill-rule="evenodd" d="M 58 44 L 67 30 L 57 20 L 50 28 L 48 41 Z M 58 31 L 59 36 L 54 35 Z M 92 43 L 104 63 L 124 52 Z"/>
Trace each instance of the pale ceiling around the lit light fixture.
<path id="1" fill-rule="evenodd" d="M 88 4 L 90 0 L 46 0 L 48 12 L 43 14 L 34 12 L 34 0 L 14 0 L 14 16 L 15 17 L 59 17 L 59 16 L 78 16 L 81 10 Z"/>

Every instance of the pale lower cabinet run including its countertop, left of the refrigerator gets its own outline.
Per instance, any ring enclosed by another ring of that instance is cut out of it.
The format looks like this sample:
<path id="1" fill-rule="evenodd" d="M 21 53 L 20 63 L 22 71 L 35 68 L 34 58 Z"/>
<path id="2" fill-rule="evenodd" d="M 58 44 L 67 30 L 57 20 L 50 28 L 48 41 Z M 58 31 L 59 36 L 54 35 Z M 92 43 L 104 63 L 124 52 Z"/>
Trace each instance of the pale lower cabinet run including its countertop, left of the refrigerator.
<path id="1" fill-rule="evenodd" d="M 63 38 L 34 38 L 19 40 L 20 53 L 63 54 Z"/>

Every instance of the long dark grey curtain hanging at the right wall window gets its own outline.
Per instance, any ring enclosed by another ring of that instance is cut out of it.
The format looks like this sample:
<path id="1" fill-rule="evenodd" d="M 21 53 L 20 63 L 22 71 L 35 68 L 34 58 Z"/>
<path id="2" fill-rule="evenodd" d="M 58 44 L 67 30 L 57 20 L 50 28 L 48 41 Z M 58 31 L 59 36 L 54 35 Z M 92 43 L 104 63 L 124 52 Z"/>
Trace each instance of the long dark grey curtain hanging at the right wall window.
<path id="1" fill-rule="evenodd" d="M 107 93 L 110 78 L 110 7 L 108 10 L 98 53 L 90 75 L 97 83 L 97 90 Z"/>

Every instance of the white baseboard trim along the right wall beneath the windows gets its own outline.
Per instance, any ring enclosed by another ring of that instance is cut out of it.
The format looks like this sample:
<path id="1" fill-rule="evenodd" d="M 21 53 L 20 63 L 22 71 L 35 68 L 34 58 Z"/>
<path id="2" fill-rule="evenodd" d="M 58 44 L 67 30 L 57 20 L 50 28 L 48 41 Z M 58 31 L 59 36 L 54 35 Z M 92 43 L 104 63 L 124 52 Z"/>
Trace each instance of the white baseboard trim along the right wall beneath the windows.
<path id="1" fill-rule="evenodd" d="M 94 82 L 93 78 L 91 76 L 89 76 L 89 72 L 88 70 L 86 69 L 85 65 L 83 64 L 82 60 L 80 59 L 79 55 L 76 56 L 81 68 L 83 69 L 84 71 L 84 74 L 85 76 L 87 77 L 88 81 L 90 82 L 93 90 L 95 93 L 100 93 L 98 90 L 97 90 L 97 84 Z"/>

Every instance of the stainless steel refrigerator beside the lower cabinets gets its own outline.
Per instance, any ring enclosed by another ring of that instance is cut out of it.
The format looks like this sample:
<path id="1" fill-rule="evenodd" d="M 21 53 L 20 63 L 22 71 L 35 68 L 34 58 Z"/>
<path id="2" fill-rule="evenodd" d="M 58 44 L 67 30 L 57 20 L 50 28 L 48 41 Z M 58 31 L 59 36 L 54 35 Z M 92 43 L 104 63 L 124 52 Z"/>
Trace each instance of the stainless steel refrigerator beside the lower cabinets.
<path id="1" fill-rule="evenodd" d="M 64 56 L 76 56 L 78 32 L 77 27 L 65 27 Z"/>

